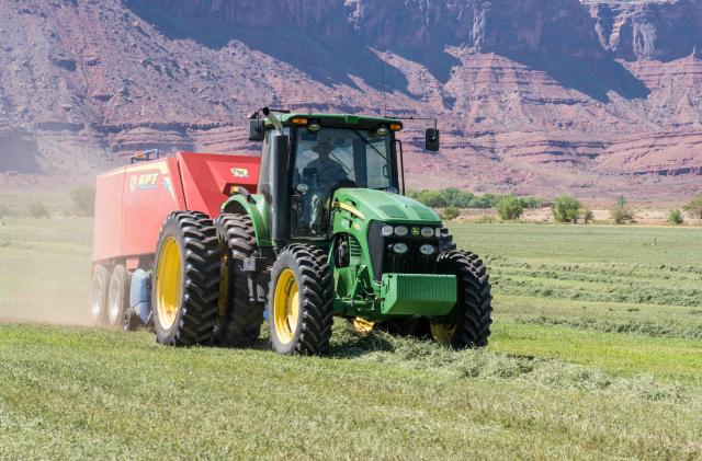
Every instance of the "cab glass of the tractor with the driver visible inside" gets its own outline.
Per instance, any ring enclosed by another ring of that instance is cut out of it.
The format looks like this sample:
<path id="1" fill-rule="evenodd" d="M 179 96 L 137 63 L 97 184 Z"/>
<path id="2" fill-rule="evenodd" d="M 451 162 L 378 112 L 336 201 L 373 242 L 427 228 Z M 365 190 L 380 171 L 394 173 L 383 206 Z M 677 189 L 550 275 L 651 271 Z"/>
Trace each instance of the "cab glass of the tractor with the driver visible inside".
<path id="1" fill-rule="evenodd" d="M 397 192 L 392 137 L 374 131 L 322 128 L 295 136 L 293 237 L 324 237 L 330 198 L 340 187 Z"/>

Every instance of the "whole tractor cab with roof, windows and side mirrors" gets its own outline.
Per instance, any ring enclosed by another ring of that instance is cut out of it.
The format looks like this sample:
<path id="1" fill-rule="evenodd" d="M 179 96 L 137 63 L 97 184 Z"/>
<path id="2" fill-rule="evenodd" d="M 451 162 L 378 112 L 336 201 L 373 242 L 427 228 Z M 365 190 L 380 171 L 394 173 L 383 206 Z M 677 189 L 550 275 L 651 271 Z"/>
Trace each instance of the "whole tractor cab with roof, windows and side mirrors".
<path id="1" fill-rule="evenodd" d="M 393 118 L 254 114 L 249 139 L 263 141 L 258 193 L 276 209 L 274 240 L 329 239 L 338 189 L 404 193 L 401 129 Z M 426 148 L 439 149 L 437 129 L 427 130 Z"/>

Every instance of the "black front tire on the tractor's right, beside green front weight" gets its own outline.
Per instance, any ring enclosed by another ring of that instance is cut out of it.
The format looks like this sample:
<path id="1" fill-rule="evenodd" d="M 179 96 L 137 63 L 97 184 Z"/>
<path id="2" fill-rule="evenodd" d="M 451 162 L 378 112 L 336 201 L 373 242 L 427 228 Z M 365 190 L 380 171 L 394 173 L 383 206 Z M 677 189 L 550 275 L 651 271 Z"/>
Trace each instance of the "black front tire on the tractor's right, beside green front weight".
<path id="1" fill-rule="evenodd" d="M 492 296 L 483 261 L 469 252 L 449 251 L 439 256 L 437 270 L 457 277 L 458 300 L 450 318 L 431 322 L 432 335 L 455 349 L 487 346 L 492 324 Z"/>

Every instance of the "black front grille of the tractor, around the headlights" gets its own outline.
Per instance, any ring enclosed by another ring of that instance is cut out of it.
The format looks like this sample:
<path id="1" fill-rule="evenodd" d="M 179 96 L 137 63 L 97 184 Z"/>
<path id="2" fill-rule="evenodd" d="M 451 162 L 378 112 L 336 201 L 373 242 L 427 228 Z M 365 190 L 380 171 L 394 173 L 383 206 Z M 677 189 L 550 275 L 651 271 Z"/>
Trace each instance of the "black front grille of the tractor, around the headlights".
<path id="1" fill-rule="evenodd" d="M 438 238 L 411 235 L 384 238 L 381 235 L 383 226 L 382 222 L 373 222 L 369 231 L 371 263 L 376 281 L 383 279 L 383 274 L 435 274 L 438 253 L 424 256 L 419 247 L 427 243 L 439 247 Z M 405 243 L 409 247 L 408 252 L 403 255 L 393 252 L 392 246 L 396 243 Z"/>

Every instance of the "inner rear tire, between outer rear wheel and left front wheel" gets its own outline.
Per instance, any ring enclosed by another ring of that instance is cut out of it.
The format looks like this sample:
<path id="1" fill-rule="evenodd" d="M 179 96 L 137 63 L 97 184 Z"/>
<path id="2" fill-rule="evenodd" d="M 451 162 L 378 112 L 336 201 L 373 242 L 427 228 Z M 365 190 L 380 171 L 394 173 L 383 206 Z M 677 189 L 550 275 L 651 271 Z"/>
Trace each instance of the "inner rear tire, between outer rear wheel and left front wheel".
<path id="1" fill-rule="evenodd" d="M 219 242 L 220 274 L 218 320 L 213 343 L 248 347 L 258 339 L 263 324 L 263 302 L 249 297 L 249 276 L 244 260 L 256 253 L 256 233 L 246 215 L 222 215 L 215 219 Z"/>

